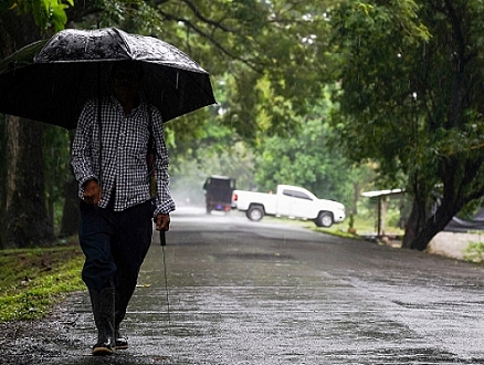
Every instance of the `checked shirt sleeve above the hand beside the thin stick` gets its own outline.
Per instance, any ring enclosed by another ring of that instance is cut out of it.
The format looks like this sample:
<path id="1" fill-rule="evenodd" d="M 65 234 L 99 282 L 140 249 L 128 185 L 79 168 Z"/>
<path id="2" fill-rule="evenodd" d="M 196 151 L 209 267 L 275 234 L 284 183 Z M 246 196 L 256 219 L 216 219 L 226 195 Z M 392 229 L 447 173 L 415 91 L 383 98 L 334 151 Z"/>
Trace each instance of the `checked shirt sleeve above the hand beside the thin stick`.
<path id="1" fill-rule="evenodd" d="M 161 114 L 155 107 L 151 109 L 152 136 L 155 142 L 155 176 L 157 185 L 156 209 L 154 217 L 159 213 L 169 213 L 175 210 L 175 201 L 169 189 L 170 177 L 168 175 L 168 149 L 165 143 L 165 129 Z"/>

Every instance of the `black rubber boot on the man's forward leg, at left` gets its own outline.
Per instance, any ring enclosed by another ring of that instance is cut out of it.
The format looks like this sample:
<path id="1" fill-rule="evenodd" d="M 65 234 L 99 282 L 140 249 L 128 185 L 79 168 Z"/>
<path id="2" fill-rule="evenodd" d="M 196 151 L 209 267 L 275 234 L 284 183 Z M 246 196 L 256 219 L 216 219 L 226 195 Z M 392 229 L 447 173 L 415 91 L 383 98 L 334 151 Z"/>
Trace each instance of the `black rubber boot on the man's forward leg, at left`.
<path id="1" fill-rule="evenodd" d="M 93 355 L 111 355 L 115 351 L 114 289 L 106 288 L 101 292 L 90 289 L 90 295 L 97 327 L 97 343 L 93 346 Z"/>

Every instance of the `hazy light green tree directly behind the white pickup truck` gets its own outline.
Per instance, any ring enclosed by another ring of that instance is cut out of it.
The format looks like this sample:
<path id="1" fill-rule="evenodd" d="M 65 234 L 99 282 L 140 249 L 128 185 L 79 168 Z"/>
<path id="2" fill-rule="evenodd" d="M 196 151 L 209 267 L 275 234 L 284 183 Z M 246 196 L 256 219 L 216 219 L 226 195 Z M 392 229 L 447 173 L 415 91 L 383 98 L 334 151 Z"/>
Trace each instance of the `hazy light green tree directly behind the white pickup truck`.
<path id="1" fill-rule="evenodd" d="M 278 184 L 303 186 L 317 197 L 341 201 L 356 213 L 367 166 L 351 166 L 338 146 L 332 144 L 329 124 L 336 108 L 326 98 L 304 116 L 301 132 L 288 137 L 266 138 L 257 149 L 255 180 L 259 189 L 274 190 Z M 356 199 L 355 199 L 356 197 Z"/>

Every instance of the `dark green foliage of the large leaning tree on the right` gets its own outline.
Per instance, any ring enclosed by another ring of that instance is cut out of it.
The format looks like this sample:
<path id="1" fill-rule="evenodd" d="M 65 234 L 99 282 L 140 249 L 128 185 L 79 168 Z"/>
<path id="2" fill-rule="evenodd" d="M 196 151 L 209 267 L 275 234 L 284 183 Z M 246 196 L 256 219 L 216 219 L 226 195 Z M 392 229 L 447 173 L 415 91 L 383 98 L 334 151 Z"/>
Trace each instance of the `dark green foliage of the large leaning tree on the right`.
<path id="1" fill-rule="evenodd" d="M 355 2 L 335 17 L 336 35 L 346 35 L 339 74 L 346 119 L 339 127 L 353 159 L 376 158 L 386 175 L 425 169 L 432 176 L 442 159 L 482 154 L 483 96 L 475 84 L 483 77 L 481 60 L 469 59 L 469 96 L 460 101 L 462 109 L 449 111 L 456 82 L 449 55 L 459 44 L 449 35 L 450 20 L 436 21 L 442 12 L 413 1 L 388 7 Z M 475 36 L 472 31 L 469 35 Z M 481 51 L 477 44 L 469 46 L 463 56 Z M 450 113 L 461 115 L 451 121 Z"/>

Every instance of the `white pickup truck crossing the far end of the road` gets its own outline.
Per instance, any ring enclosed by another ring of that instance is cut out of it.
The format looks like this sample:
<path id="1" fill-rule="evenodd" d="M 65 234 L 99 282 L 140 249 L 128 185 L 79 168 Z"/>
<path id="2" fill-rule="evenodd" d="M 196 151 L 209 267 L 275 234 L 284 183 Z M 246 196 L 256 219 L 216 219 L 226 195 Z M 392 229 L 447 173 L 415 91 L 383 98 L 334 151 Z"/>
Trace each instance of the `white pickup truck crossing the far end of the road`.
<path id="1" fill-rule="evenodd" d="M 333 200 L 318 199 L 297 186 L 278 185 L 276 194 L 234 190 L 232 208 L 245 211 L 250 220 L 264 216 L 312 219 L 317 227 L 330 227 L 345 220 L 345 206 Z"/>

